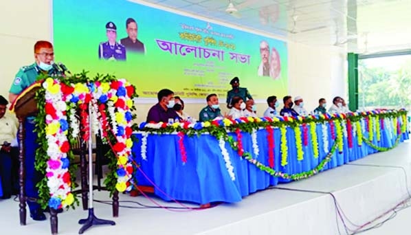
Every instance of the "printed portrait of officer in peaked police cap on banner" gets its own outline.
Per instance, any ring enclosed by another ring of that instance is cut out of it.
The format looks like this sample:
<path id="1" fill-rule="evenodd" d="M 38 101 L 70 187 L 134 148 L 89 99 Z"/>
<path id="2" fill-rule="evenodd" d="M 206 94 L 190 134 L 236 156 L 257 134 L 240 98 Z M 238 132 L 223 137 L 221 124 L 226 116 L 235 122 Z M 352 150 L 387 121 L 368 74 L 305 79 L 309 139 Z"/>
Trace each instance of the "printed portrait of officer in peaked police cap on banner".
<path id="1" fill-rule="evenodd" d="M 126 60 L 126 47 L 117 43 L 117 27 L 113 22 L 106 24 L 109 41 L 98 45 L 98 58 L 106 60 Z"/>

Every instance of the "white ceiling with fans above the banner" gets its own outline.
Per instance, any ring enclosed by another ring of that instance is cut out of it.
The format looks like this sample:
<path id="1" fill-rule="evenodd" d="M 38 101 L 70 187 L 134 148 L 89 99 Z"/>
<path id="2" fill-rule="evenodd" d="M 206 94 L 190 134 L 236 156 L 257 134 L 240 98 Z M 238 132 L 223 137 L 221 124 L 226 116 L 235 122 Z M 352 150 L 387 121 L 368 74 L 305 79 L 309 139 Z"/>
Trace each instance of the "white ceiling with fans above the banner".
<path id="1" fill-rule="evenodd" d="M 411 0 L 144 0 L 307 45 L 368 54 L 411 48 Z"/>

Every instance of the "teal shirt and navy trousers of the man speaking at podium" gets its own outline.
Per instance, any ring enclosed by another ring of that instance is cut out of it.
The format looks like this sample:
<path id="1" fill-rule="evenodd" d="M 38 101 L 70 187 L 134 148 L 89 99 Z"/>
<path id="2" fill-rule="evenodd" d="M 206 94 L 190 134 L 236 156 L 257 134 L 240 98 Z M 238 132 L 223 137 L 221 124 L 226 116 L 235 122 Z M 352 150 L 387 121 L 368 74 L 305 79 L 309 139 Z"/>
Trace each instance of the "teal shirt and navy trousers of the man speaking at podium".
<path id="1" fill-rule="evenodd" d="M 12 87 L 10 87 L 10 93 L 19 94 L 21 91 L 30 87 L 34 82 L 39 74 L 45 73 L 45 71 L 41 70 L 36 63 L 21 67 L 19 72 L 17 72 L 16 77 L 12 83 Z M 47 71 L 47 74 L 53 75 L 58 74 L 58 71 L 54 71 L 54 69 L 50 69 Z M 34 168 L 34 161 L 36 159 L 36 149 L 38 148 L 38 144 L 36 143 L 37 133 L 34 131 L 35 117 L 27 117 L 25 120 L 25 192 L 27 197 L 38 198 L 38 189 L 36 188 L 36 183 L 43 179 L 44 175 L 41 172 L 38 172 Z M 41 213 L 42 210 L 40 205 L 36 202 L 27 201 L 27 204 L 30 208 L 30 216 L 34 218 L 37 216 L 36 220 L 43 220 L 38 219 L 38 213 Z M 45 217 L 44 217 L 45 219 Z"/>

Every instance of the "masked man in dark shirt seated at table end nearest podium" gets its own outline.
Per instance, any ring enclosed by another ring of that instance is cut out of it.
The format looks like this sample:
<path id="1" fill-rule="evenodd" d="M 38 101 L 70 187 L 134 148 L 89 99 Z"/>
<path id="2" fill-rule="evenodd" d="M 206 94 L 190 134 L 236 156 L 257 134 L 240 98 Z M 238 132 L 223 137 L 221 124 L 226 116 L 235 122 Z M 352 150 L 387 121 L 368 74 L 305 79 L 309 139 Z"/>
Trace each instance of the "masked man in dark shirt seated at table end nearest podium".
<path id="1" fill-rule="evenodd" d="M 169 89 L 162 89 L 157 93 L 158 103 L 148 111 L 147 122 L 168 122 L 168 120 L 181 120 L 177 112 L 173 109 L 175 100 L 174 92 Z"/>

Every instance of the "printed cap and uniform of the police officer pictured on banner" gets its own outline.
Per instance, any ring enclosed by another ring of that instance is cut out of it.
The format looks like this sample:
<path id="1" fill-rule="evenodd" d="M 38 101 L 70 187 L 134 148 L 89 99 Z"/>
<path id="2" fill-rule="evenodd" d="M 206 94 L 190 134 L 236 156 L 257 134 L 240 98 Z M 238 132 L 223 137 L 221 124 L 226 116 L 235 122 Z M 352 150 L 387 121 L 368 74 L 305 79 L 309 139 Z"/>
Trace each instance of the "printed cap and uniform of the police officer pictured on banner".
<path id="1" fill-rule="evenodd" d="M 109 22 L 106 24 L 106 30 L 116 32 L 117 27 L 113 22 Z M 100 43 L 98 45 L 98 58 L 126 60 L 126 47 L 117 42 L 114 45 L 110 45 L 109 41 Z"/>

